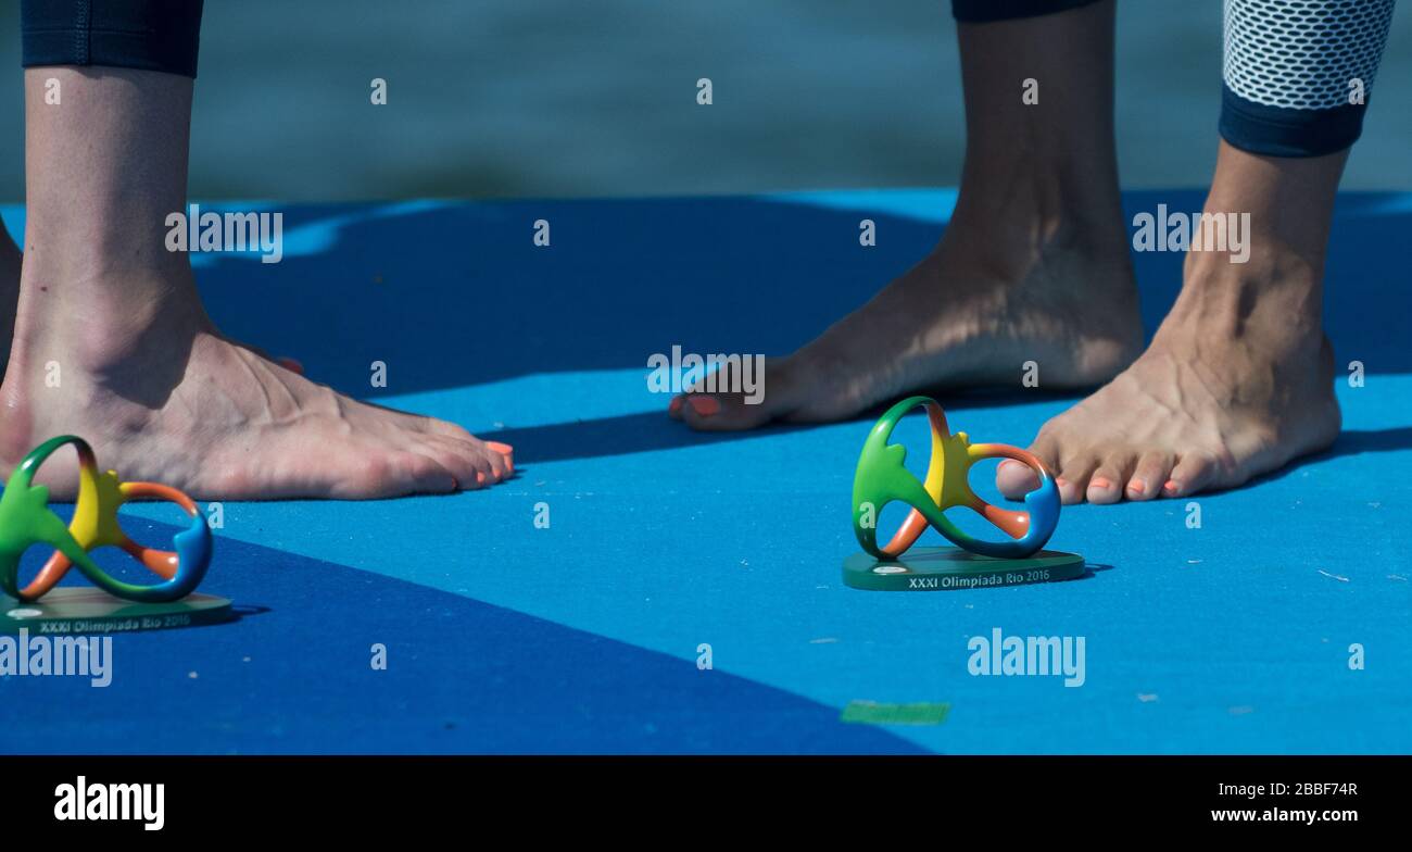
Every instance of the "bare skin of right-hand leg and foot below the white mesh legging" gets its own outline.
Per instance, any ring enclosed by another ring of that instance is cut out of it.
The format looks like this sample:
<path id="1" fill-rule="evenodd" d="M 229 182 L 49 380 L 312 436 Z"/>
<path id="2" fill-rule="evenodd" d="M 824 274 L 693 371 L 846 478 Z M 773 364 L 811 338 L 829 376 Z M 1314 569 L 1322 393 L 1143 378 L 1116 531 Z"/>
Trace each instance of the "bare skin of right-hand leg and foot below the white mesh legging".
<path id="1" fill-rule="evenodd" d="M 1221 143 L 1204 209 L 1250 215 L 1248 261 L 1190 252 L 1151 348 L 1045 424 L 1032 449 L 1065 502 L 1233 487 L 1333 442 L 1340 417 L 1322 300 L 1346 158 L 1262 157 Z M 1018 496 L 1035 483 L 1007 465 L 1000 485 Z"/>

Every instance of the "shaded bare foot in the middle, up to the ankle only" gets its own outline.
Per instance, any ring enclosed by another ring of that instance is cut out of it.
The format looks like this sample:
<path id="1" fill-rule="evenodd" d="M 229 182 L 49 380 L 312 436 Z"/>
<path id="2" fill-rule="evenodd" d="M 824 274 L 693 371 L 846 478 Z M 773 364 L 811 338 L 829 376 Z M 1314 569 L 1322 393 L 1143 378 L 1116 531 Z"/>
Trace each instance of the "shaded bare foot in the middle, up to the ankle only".
<path id="1" fill-rule="evenodd" d="M 689 393 L 669 413 L 699 430 L 842 420 L 918 390 L 1019 387 L 1028 360 L 1041 365 L 1045 387 L 1101 384 L 1137 356 L 1142 333 L 1127 246 L 1111 233 L 953 222 L 863 308 L 767 360 L 758 404 Z"/>

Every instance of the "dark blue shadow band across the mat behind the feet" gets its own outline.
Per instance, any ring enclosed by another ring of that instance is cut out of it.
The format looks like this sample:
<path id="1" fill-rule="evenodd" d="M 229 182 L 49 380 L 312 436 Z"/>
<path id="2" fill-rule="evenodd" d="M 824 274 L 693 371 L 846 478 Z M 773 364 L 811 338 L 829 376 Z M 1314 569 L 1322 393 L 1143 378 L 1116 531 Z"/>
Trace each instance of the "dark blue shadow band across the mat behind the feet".
<path id="1" fill-rule="evenodd" d="M 840 198 L 847 198 L 842 195 Z M 1137 212 L 1199 212 L 1196 191 L 1124 194 Z M 938 205 L 945 203 L 938 194 Z M 641 367 L 686 352 L 782 355 L 923 257 L 947 211 L 923 220 L 785 198 L 395 202 L 281 206 L 285 256 L 202 259 L 212 316 L 309 374 L 377 396 L 563 370 Z M 858 220 L 878 244 L 858 246 Z M 534 222 L 552 225 L 535 247 Z M 1406 195 L 1339 196 L 1326 325 L 1340 363 L 1412 372 L 1409 295 L 1395 250 Z M 1179 252 L 1134 253 L 1151 335 L 1182 281 Z M 369 387 L 370 363 L 388 367 Z"/>

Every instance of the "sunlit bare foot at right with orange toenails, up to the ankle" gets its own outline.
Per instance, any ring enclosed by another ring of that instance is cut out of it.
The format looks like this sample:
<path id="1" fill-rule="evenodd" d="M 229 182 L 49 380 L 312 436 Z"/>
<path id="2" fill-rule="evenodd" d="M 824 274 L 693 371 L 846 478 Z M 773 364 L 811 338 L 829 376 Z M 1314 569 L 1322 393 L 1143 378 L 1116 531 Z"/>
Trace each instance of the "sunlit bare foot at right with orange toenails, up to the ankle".
<path id="1" fill-rule="evenodd" d="M 1185 497 L 1234 487 L 1333 444 L 1333 349 L 1319 326 L 1316 266 L 1190 254 L 1186 285 L 1152 346 L 1043 425 L 1031 451 L 1065 503 Z M 1036 487 L 1003 465 L 1008 497 Z"/>

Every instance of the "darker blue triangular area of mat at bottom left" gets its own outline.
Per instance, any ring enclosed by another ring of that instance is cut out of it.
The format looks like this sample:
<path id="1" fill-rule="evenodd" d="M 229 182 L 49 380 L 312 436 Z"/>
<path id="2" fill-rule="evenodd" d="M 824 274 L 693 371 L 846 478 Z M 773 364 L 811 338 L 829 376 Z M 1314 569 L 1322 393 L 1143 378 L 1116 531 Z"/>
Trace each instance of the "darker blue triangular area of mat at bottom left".
<path id="1" fill-rule="evenodd" d="M 140 541 L 175 531 L 124 523 Z M 202 591 L 247 615 L 116 636 L 106 688 L 0 678 L 0 752 L 922 752 L 693 658 L 226 537 Z"/>

